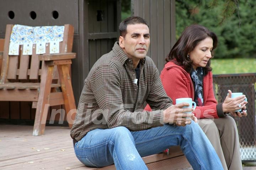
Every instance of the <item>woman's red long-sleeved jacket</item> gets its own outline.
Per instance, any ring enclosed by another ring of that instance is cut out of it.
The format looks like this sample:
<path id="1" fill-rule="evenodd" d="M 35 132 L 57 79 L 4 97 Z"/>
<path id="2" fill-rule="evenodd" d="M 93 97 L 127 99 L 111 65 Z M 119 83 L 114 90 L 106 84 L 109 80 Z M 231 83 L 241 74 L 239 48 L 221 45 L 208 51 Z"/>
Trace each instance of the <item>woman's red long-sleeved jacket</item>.
<path id="1" fill-rule="evenodd" d="M 165 64 L 161 72 L 160 78 L 166 91 L 166 94 L 176 104 L 176 98 L 190 97 L 194 100 L 194 87 L 190 77 L 181 66 L 174 62 Z M 203 79 L 203 99 L 204 106 L 197 106 L 193 112 L 197 118 L 219 118 L 217 114 L 217 101 L 213 92 L 212 72 L 208 72 Z M 146 111 L 151 110 L 149 105 L 145 108 Z"/>

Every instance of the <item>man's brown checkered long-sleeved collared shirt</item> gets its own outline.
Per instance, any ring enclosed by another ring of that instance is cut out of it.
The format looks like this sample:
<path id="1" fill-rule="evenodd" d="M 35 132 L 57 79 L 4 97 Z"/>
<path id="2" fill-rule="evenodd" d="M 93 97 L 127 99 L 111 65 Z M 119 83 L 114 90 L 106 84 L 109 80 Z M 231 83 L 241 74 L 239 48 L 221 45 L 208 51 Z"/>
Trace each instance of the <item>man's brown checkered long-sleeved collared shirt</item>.
<path id="1" fill-rule="evenodd" d="M 71 137 L 79 141 L 97 128 L 125 126 L 139 131 L 163 126 L 163 110 L 172 105 L 172 100 L 166 95 L 150 57 L 140 60 L 139 86 L 133 83 L 135 78 L 132 60 L 116 42 L 85 79 Z M 152 112 L 141 109 L 145 101 Z"/>

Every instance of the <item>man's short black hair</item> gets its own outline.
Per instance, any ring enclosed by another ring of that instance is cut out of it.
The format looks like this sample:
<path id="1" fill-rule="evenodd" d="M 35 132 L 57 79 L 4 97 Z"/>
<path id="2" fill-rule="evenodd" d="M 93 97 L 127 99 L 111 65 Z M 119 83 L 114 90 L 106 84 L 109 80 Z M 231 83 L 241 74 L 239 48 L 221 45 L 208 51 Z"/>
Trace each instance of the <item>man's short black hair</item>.
<path id="1" fill-rule="evenodd" d="M 122 37 L 126 36 L 127 26 L 129 24 L 145 24 L 149 28 L 149 25 L 145 19 L 143 19 L 141 17 L 137 17 L 137 16 L 129 17 L 129 18 L 124 19 L 119 25 L 119 32 Z"/>

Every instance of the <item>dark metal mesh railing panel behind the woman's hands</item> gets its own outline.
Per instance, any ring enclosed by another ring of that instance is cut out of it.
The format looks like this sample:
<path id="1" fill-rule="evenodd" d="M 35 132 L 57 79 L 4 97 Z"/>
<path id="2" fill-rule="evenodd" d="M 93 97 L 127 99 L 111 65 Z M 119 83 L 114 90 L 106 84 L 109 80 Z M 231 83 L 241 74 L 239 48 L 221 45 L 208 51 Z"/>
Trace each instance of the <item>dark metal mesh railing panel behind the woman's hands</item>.
<path id="1" fill-rule="evenodd" d="M 256 73 L 213 75 L 213 86 L 219 103 L 225 100 L 228 90 L 246 95 L 247 117 L 234 119 L 238 126 L 242 161 L 256 161 Z"/>

